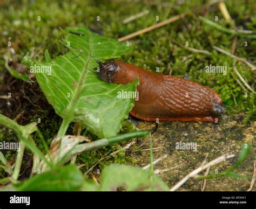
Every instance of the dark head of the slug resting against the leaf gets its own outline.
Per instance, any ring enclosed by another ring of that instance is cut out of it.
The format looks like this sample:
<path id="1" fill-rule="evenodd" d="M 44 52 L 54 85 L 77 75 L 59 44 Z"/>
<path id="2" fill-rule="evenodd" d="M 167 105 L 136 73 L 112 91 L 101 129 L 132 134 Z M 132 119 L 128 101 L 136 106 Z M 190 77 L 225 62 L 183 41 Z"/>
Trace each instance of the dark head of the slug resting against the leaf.
<path id="1" fill-rule="evenodd" d="M 113 74 L 117 72 L 118 64 L 116 62 L 100 62 L 97 60 L 99 64 L 98 76 L 105 82 L 113 81 Z"/>

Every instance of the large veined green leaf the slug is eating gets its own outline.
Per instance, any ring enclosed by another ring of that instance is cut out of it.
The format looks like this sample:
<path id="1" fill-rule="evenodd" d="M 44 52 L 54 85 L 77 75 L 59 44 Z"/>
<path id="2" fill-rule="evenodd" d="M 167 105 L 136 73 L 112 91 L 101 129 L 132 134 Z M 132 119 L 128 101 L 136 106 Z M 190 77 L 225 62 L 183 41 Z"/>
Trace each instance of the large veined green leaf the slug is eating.
<path id="1" fill-rule="evenodd" d="M 35 75 L 49 103 L 63 118 L 58 136 L 65 135 L 72 121 L 82 123 L 101 138 L 115 136 L 134 105 L 133 99 L 118 99 L 118 92 L 134 92 L 139 82 L 126 86 L 106 83 L 93 69 L 98 67 L 97 60 L 120 57 L 131 47 L 86 28 L 69 28 L 66 33 L 64 42 L 71 50 L 69 53 L 55 60 L 34 62 L 51 68 L 51 73 Z"/>

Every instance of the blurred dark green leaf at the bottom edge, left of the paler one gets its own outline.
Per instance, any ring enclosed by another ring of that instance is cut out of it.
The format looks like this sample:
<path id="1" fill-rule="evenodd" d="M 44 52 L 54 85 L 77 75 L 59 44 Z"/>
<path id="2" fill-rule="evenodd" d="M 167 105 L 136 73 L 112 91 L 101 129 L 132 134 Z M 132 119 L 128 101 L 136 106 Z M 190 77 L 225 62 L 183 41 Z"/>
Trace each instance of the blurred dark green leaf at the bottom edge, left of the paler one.
<path id="1" fill-rule="evenodd" d="M 17 185 L 17 191 L 79 191 L 84 177 L 76 165 L 55 168 Z"/>

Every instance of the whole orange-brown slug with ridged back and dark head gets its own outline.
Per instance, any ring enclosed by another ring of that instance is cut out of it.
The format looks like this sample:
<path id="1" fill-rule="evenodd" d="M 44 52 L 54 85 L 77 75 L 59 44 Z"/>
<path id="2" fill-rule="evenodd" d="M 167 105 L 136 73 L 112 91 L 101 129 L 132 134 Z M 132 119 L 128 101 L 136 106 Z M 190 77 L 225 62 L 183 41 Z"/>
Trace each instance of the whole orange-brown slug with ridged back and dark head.
<path id="1" fill-rule="evenodd" d="M 224 113 L 220 96 L 197 82 L 152 73 L 117 60 L 97 63 L 98 76 L 106 82 L 126 85 L 139 78 L 139 99 L 130 112 L 138 119 L 214 122 Z"/>

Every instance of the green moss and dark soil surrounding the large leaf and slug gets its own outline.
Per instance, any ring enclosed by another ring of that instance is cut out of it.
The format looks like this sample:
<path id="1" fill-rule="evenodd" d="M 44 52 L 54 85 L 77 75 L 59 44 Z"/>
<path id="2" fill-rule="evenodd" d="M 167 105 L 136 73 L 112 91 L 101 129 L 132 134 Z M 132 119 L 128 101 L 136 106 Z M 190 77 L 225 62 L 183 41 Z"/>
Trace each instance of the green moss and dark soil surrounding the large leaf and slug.
<path id="1" fill-rule="evenodd" d="M 203 3 L 205 1 L 201 2 L 201 4 Z M 67 48 L 60 44 L 59 40 L 63 37 L 62 29 L 68 26 L 87 26 L 97 33 L 119 38 L 158 23 L 156 16 L 161 22 L 200 5 L 198 1 L 170 1 L 170 3 L 166 3 L 165 1 L 78 0 L 72 2 L 2 1 L 0 4 L 0 55 L 2 57 L 10 50 L 8 41 L 11 41 L 11 47 L 14 48 L 19 61 L 28 54 L 33 55 L 33 58 L 37 60 L 42 60 L 46 48 L 48 48 L 52 58 L 66 53 Z M 253 0 L 227 1 L 226 6 L 233 18 L 233 25 L 235 24 L 239 29 L 255 30 L 256 5 Z M 128 24 L 122 23 L 123 19 L 146 9 L 150 11 L 147 15 Z M 231 76 L 233 59 L 213 49 L 213 46 L 218 46 L 230 52 L 234 36 L 202 23 L 198 19 L 198 15 L 203 15 L 210 20 L 214 20 L 215 16 L 218 16 L 218 24 L 230 27 L 221 14 L 218 4 L 214 4 L 197 14 L 191 13 L 177 22 L 130 39 L 130 44 L 134 49 L 123 55 L 121 59 L 153 71 L 158 67 L 160 73 L 171 73 L 181 78 L 188 75 L 191 80 L 209 86 L 219 93 L 226 105 L 228 115 L 243 113 L 241 123 L 252 124 L 255 120 L 254 94 L 248 93 L 245 96 L 244 90 L 235 81 L 237 76 L 235 75 L 235 78 Z M 97 16 L 100 21 L 97 21 Z M 38 21 L 39 18 L 41 18 L 40 21 Z M 172 39 L 182 45 L 185 45 L 187 41 L 189 47 L 207 50 L 211 52 L 211 56 L 187 51 L 174 44 Z M 248 43 L 247 46 L 245 46 L 245 41 Z M 239 37 L 235 55 L 245 57 L 254 62 L 255 65 L 255 47 L 255 40 Z M 205 66 L 210 64 L 227 66 L 227 74 L 205 73 Z M 237 69 L 248 84 L 253 87 L 255 73 L 250 71 L 247 65 L 240 62 L 237 62 Z M 61 122 L 60 117 L 48 105 L 37 83 L 28 84 L 15 80 L 10 78 L 10 74 L 4 69 L 3 59 L 0 59 L 0 95 L 6 95 L 10 91 L 12 95 L 15 95 L 10 100 L 0 100 L 0 113 L 11 119 L 22 113 L 17 121 L 23 125 L 40 118 L 41 123 L 38 124 L 38 127 L 42 131 L 46 143 L 50 145 L 52 138 L 57 134 Z M 20 89 L 23 89 L 30 101 L 24 97 Z M 36 95 L 32 94 L 31 90 Z M 182 124 L 180 125 L 182 126 Z M 134 130 L 134 127 L 128 121 L 122 131 L 130 130 Z M 72 134 L 72 124 L 68 132 Z M 0 134 L 1 141 L 15 138 L 14 134 L 10 134 L 7 129 L 2 129 Z M 95 138 L 92 135 L 89 137 Z M 179 136 L 177 135 L 177 137 Z M 36 136 L 35 141 L 38 147 L 43 150 L 42 142 Z M 80 155 L 77 162 L 85 164 L 82 170 L 86 171 L 101 157 L 109 155 L 120 147 L 122 144 Z M 11 160 L 12 157 L 13 154 L 6 152 L 8 160 Z M 133 162 L 133 159 L 129 157 L 129 153 L 122 151 L 113 157 L 106 158 L 96 168 L 102 169 L 106 164 L 112 162 L 127 163 Z"/>

